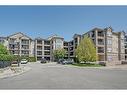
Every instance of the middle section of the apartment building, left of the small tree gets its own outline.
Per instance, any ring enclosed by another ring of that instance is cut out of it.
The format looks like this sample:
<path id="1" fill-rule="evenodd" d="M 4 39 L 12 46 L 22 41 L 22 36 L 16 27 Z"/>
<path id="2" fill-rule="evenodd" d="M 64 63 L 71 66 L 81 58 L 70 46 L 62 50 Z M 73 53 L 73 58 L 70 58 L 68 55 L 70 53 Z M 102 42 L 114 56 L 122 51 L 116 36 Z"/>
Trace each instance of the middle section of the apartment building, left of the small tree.
<path id="1" fill-rule="evenodd" d="M 37 60 L 45 58 L 46 60 L 53 61 L 53 51 L 58 48 L 63 48 L 64 39 L 57 35 L 53 35 L 47 39 L 40 37 L 35 39 L 35 56 Z"/>

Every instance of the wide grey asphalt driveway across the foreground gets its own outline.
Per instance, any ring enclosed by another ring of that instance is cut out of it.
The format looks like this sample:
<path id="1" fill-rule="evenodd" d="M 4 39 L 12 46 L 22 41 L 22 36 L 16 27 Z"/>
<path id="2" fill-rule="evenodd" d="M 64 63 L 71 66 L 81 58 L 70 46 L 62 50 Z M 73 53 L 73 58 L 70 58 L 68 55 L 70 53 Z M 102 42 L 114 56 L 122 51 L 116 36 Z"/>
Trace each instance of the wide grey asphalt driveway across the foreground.
<path id="1" fill-rule="evenodd" d="M 127 89 L 126 69 L 27 64 L 31 70 L 0 79 L 0 89 Z"/>

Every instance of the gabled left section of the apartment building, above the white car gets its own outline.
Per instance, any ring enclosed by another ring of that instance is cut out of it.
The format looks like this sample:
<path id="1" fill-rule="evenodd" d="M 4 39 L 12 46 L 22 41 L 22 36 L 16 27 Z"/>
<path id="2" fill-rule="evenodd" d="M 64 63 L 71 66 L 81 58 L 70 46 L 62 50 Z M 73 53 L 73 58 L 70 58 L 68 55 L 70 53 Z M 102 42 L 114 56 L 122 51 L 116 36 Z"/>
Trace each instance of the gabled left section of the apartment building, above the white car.
<path id="1" fill-rule="evenodd" d="M 27 35 L 18 32 L 7 37 L 7 49 L 19 56 L 34 56 L 34 42 Z"/>

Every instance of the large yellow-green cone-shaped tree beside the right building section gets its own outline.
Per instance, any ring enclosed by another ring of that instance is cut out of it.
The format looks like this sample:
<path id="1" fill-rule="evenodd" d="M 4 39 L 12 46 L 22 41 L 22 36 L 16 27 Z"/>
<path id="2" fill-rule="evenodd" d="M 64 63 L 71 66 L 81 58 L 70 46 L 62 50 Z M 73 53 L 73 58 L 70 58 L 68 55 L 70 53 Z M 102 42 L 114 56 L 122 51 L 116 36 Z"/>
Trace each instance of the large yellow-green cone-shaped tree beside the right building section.
<path id="1" fill-rule="evenodd" d="M 85 36 L 76 49 L 76 57 L 79 62 L 94 62 L 98 60 L 98 56 L 96 53 L 96 48 L 93 41 Z"/>

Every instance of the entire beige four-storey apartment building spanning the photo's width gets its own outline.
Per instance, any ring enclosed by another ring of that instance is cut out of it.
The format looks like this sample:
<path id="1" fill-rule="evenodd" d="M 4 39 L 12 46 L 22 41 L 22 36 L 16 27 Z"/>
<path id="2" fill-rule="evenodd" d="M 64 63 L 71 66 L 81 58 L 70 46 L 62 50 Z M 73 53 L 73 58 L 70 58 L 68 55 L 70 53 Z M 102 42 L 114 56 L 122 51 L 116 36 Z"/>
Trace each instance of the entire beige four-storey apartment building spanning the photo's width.
<path id="1" fill-rule="evenodd" d="M 94 42 L 99 62 L 115 65 L 127 60 L 127 34 L 123 31 L 115 32 L 111 27 L 94 28 L 82 35 L 74 34 L 71 41 L 65 41 L 58 35 L 32 40 L 27 35 L 18 32 L 7 37 L 0 37 L 0 43 L 14 55 L 35 56 L 37 60 L 45 58 L 54 61 L 53 51 L 59 48 L 67 51 L 65 58 L 75 58 L 75 50 L 85 35 Z"/>

